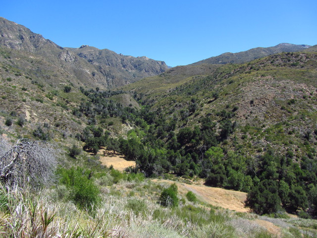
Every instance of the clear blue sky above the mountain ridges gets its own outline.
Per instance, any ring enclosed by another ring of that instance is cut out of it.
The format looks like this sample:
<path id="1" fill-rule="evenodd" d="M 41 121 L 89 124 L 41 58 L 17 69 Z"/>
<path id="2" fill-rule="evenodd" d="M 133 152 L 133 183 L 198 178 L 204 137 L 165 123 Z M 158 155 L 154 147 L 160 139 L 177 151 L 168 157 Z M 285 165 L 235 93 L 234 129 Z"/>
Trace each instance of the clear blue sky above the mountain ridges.
<path id="1" fill-rule="evenodd" d="M 62 47 L 90 45 L 170 66 L 317 44 L 317 0 L 3 0 L 0 16 Z"/>

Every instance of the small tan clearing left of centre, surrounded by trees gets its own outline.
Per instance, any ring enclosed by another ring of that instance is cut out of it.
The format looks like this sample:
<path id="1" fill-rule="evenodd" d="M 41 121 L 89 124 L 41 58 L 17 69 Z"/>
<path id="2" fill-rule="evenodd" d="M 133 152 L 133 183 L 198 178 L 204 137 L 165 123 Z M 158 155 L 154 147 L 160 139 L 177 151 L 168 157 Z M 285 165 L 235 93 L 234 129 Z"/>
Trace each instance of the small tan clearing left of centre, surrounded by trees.
<path id="1" fill-rule="evenodd" d="M 124 171 L 129 166 L 135 167 L 135 161 L 125 160 L 122 154 L 112 153 L 105 149 L 99 150 L 98 154 L 100 155 L 101 164 L 107 167 L 112 165 L 114 169 L 119 171 Z"/>

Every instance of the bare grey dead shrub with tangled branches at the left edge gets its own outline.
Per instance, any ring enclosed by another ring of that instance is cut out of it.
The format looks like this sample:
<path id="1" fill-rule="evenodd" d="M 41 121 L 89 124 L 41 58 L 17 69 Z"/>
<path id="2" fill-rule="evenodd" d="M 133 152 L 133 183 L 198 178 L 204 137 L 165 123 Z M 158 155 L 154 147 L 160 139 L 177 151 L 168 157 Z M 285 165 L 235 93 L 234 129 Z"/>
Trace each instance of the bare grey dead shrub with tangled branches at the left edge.
<path id="1" fill-rule="evenodd" d="M 55 150 L 46 141 L 19 139 L 15 146 L 7 149 L 0 138 L 0 180 L 7 186 L 49 185 L 56 165 Z"/>

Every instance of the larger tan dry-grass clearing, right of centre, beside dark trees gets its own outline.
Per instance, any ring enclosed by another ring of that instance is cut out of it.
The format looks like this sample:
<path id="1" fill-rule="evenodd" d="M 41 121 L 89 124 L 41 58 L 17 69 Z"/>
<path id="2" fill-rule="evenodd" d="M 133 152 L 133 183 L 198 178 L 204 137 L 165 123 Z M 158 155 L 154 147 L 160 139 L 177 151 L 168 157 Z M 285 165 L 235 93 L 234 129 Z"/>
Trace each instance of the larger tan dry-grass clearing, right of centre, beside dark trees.
<path id="1" fill-rule="evenodd" d="M 173 183 L 171 180 L 154 179 L 157 182 Z M 248 208 L 244 207 L 244 201 L 247 198 L 247 193 L 227 190 L 219 187 L 209 187 L 203 184 L 187 184 L 175 182 L 181 194 L 186 194 L 192 191 L 196 194 L 197 198 L 209 203 L 213 206 L 222 207 L 225 209 L 237 212 L 249 212 Z"/>

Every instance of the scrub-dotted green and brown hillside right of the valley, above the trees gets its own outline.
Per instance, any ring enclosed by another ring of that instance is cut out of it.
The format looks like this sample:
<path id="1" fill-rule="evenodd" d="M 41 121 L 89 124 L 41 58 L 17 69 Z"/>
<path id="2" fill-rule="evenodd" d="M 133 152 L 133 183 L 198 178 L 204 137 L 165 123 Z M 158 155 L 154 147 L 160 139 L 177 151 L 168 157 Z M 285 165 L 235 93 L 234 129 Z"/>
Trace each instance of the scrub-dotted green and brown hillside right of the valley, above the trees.
<path id="1" fill-rule="evenodd" d="M 230 142 L 223 145 L 228 150 L 255 156 L 269 145 L 278 153 L 292 150 L 301 158 L 312 156 L 303 146 L 308 135 L 309 148 L 316 150 L 316 68 L 316 53 L 283 53 L 223 65 L 205 75 L 178 75 L 177 84 L 170 82 L 170 71 L 166 71 L 124 89 L 154 111 L 177 119 L 177 127 L 193 128 L 203 118 L 216 123 L 223 118 L 235 121 Z M 155 88 L 141 86 L 150 81 Z"/>

